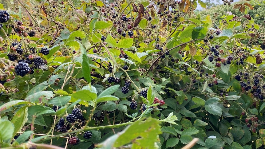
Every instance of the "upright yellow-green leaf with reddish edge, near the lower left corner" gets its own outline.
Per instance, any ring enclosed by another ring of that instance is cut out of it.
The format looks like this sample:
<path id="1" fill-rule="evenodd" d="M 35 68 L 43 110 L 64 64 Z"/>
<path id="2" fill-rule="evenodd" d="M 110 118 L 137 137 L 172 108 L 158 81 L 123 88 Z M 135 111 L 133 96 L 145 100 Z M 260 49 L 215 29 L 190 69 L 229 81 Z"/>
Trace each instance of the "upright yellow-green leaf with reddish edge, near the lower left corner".
<path id="1" fill-rule="evenodd" d="M 23 106 L 16 112 L 16 114 L 11 120 L 11 122 L 14 124 L 13 137 L 25 125 L 25 123 L 27 122 L 27 118 L 28 118 L 28 106 Z"/>

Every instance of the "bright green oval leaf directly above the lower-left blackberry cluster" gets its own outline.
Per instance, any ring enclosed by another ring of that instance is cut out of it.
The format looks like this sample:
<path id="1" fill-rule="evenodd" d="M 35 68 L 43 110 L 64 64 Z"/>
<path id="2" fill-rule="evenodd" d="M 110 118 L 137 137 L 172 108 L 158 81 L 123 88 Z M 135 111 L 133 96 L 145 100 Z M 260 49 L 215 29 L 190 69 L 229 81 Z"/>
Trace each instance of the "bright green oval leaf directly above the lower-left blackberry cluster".
<path id="1" fill-rule="evenodd" d="M 76 99 L 81 99 L 84 101 L 93 101 L 97 99 L 97 94 L 89 90 L 80 90 L 72 94 L 72 97 Z"/>

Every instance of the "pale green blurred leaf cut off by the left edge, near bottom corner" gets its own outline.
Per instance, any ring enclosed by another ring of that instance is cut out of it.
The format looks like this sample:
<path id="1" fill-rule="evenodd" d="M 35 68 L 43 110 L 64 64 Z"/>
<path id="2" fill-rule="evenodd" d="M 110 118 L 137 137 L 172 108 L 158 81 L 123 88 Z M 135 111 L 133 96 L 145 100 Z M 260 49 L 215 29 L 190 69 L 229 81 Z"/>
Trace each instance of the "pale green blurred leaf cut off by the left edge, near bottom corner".
<path id="1" fill-rule="evenodd" d="M 9 120 L 0 119 L 0 141 L 13 138 L 14 125 Z"/>

